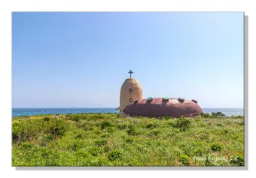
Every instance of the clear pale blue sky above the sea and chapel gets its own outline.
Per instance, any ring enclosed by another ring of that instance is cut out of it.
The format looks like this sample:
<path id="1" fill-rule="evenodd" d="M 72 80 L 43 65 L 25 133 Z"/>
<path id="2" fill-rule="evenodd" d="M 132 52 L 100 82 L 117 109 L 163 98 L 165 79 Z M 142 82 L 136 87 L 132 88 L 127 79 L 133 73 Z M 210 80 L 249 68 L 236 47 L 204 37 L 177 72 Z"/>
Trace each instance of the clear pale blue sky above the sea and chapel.
<path id="1" fill-rule="evenodd" d="M 13 107 L 118 107 L 143 97 L 243 107 L 243 13 L 13 13 Z"/>

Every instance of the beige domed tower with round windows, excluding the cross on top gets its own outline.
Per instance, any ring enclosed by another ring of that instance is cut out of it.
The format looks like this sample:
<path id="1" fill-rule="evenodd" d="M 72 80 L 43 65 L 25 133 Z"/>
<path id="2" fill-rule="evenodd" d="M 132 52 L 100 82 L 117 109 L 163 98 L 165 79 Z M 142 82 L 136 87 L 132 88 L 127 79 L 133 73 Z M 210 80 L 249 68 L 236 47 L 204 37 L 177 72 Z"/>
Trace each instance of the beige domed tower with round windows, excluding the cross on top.
<path id="1" fill-rule="evenodd" d="M 123 116 L 124 108 L 136 99 L 142 99 L 142 87 L 135 78 L 127 78 L 120 89 L 120 107 L 116 110 L 120 110 L 120 115 Z"/>

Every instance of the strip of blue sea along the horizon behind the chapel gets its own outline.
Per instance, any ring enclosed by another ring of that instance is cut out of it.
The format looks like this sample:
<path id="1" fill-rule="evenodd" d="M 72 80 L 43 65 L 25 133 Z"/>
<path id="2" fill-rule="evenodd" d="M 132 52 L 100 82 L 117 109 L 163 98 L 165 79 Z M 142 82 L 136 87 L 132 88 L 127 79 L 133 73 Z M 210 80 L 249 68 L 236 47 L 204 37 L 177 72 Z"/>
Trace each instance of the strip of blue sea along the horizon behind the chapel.
<path id="1" fill-rule="evenodd" d="M 205 113 L 218 112 L 226 116 L 243 116 L 243 108 L 203 108 Z M 41 114 L 67 114 L 67 113 L 118 113 L 114 107 L 105 108 L 13 108 L 12 116 L 34 116 Z"/>

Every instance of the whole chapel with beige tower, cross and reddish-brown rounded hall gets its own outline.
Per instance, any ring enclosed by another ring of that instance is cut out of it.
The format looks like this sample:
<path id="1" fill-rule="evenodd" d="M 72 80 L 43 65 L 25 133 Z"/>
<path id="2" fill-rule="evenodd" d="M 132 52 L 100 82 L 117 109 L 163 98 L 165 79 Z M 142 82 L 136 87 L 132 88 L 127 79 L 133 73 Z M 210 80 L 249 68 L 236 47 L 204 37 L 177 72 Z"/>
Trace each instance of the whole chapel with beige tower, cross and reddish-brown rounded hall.
<path id="1" fill-rule="evenodd" d="M 120 116 L 145 116 L 172 118 L 181 116 L 199 116 L 203 113 L 197 101 L 184 98 L 144 98 L 142 87 L 136 78 L 132 77 L 133 71 L 128 72 L 130 77 L 124 80 L 120 89 L 120 106 L 115 110 L 120 111 Z"/>

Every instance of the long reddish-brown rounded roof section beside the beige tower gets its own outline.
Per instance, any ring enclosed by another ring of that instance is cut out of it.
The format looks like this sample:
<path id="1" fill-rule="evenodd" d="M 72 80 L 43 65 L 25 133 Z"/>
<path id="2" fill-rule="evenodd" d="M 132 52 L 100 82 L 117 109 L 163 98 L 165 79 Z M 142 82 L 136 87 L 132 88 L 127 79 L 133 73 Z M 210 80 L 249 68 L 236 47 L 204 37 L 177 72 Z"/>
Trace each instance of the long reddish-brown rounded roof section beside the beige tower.
<path id="1" fill-rule="evenodd" d="M 163 98 L 142 99 L 127 105 L 123 111 L 130 116 L 146 117 L 180 117 L 203 113 L 197 101 L 188 101 L 182 98 L 169 98 L 169 100 L 164 100 Z"/>

